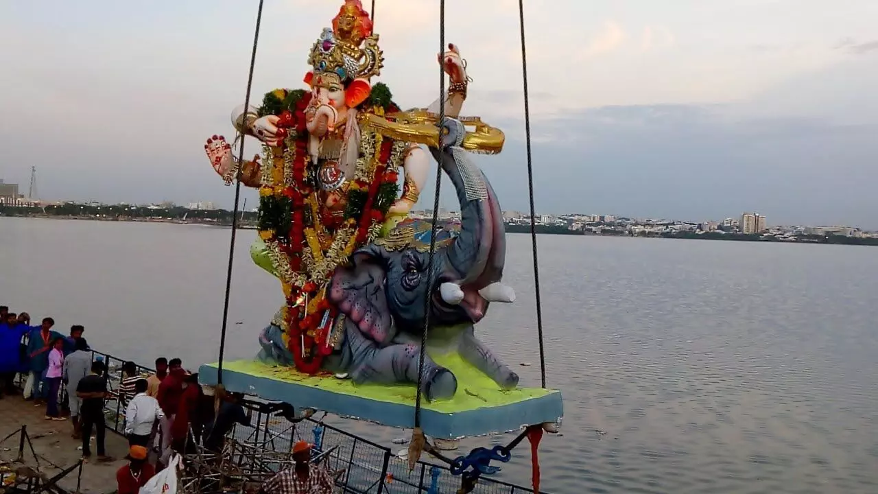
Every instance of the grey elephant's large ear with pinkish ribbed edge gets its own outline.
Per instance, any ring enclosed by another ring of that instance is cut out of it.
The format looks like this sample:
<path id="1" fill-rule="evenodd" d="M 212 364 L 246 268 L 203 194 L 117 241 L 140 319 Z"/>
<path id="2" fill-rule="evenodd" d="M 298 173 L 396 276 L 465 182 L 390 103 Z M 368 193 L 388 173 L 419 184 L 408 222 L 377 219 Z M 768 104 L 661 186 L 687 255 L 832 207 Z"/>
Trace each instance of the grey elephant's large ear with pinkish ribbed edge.
<path id="1" fill-rule="evenodd" d="M 349 267 L 335 270 L 327 290 L 329 301 L 379 346 L 396 336 L 393 318 L 387 308 L 386 265 L 380 258 L 357 251 Z"/>

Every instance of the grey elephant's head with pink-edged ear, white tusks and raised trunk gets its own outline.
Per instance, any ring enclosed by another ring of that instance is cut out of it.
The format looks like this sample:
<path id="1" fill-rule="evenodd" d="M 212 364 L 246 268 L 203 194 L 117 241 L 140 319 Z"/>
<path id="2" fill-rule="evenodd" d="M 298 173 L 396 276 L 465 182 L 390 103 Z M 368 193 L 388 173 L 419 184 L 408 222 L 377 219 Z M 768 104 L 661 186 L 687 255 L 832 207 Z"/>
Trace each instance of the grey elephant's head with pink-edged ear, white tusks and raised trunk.
<path id="1" fill-rule="evenodd" d="M 378 342 L 389 342 L 399 331 L 423 331 L 425 309 L 431 327 L 455 326 L 478 323 L 491 301 L 515 300 L 512 288 L 500 283 L 506 235 L 497 196 L 459 147 L 464 125 L 446 119 L 443 128 L 443 149 L 431 150 L 457 191 L 459 234 L 437 243 L 429 267 L 428 249 L 407 236 L 402 223 L 356 251 L 352 265 L 336 270 L 327 292 L 360 331 Z"/>

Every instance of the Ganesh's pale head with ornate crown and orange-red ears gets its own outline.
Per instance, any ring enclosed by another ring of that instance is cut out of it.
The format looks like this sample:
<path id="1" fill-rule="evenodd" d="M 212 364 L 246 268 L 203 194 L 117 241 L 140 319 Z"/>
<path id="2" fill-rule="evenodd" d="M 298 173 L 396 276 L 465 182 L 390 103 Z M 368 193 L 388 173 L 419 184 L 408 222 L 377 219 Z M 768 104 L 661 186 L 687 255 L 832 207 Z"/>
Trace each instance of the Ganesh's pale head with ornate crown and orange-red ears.
<path id="1" fill-rule="evenodd" d="M 369 98 L 369 81 L 384 62 L 360 0 L 346 0 L 332 25 L 314 43 L 308 57 L 312 70 L 305 76 L 311 90 L 306 127 L 315 139 L 333 133 L 348 120 L 350 109 Z"/>

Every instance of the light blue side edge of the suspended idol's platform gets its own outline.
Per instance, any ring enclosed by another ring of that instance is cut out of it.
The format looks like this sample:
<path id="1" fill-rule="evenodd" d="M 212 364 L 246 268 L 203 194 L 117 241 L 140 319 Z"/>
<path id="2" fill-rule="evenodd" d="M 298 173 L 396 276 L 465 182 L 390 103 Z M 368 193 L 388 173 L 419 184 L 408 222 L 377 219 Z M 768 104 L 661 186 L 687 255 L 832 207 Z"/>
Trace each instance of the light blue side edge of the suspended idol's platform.
<path id="1" fill-rule="evenodd" d="M 361 396 L 332 393 L 319 388 L 301 386 L 295 382 L 279 381 L 270 377 L 244 374 L 223 369 L 223 386 L 228 391 L 259 396 L 263 400 L 286 402 L 297 407 L 311 407 L 344 417 L 369 420 L 390 427 L 414 427 L 414 403 L 389 403 Z M 216 386 L 217 367 L 202 365 L 198 381 L 205 386 Z M 522 402 L 497 407 L 443 413 L 421 409 L 421 429 L 433 438 L 455 440 L 492 432 L 508 432 L 525 425 L 557 422 L 564 416 L 564 402 L 560 391 Z"/>

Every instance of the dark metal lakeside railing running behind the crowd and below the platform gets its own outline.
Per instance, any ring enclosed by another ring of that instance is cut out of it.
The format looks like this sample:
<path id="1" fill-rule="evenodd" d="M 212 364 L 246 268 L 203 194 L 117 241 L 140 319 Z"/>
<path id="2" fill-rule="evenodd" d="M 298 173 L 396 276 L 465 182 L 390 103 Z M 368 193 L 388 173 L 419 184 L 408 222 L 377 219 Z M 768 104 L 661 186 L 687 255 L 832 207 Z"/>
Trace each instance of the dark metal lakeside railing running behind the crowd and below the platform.
<path id="1" fill-rule="evenodd" d="M 121 367 L 127 360 L 119 359 L 109 353 L 91 351 L 92 360 L 100 357 L 106 365 L 109 398 L 104 401 L 104 415 L 107 428 L 119 435 L 125 434 L 124 397 L 120 396 Z M 149 367 L 137 365 L 137 374 L 146 377 L 155 374 Z M 20 378 L 19 378 L 20 379 Z M 66 390 L 63 391 L 66 393 Z M 451 474 L 447 467 L 429 461 L 418 461 L 415 469 L 408 472 L 408 461 L 397 458 L 389 447 L 378 445 L 349 432 L 344 432 L 320 420 L 306 418 L 293 424 L 285 418 L 263 412 L 263 402 L 246 401 L 242 403 L 250 416 L 253 427 L 236 425 L 229 437 L 241 444 L 252 446 L 254 457 L 239 455 L 236 468 L 250 465 L 255 469 L 255 451 L 264 450 L 288 454 L 291 446 L 298 440 L 307 440 L 314 445 L 314 453 L 330 471 L 342 470 L 336 477 L 336 485 L 346 493 L 437 494 L 455 492 L 460 487 L 460 476 Z M 263 459 L 264 460 L 264 459 Z M 277 463 L 279 465 L 280 463 Z M 276 465 L 276 467 L 277 467 Z M 263 464 L 259 468 L 263 468 Z M 275 470 L 277 471 L 277 470 Z M 521 485 L 506 483 L 482 476 L 472 492 L 477 494 L 516 494 L 532 493 L 533 490 Z"/>

